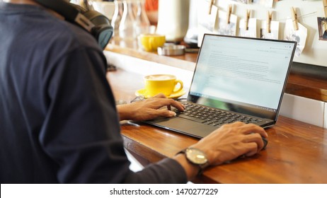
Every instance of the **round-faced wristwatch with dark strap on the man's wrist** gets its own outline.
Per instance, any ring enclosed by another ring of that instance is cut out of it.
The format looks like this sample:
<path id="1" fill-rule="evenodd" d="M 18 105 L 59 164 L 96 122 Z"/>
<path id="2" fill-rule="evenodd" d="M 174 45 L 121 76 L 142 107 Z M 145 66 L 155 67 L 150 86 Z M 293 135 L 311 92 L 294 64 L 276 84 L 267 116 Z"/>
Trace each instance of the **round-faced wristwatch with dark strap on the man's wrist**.
<path id="1" fill-rule="evenodd" d="M 207 155 L 198 148 L 188 147 L 178 153 L 185 153 L 185 157 L 190 163 L 200 167 L 197 175 L 201 175 L 203 170 L 209 165 Z"/>

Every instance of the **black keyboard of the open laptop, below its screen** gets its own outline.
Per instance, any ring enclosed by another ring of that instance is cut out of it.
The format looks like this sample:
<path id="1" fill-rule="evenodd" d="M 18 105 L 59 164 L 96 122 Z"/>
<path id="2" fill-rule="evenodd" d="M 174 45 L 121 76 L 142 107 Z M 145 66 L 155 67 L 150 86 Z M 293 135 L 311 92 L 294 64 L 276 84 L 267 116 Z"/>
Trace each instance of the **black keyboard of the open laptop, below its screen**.
<path id="1" fill-rule="evenodd" d="M 174 109 L 174 111 L 176 112 L 176 116 L 183 117 L 188 120 L 193 120 L 195 122 L 212 125 L 215 127 L 238 121 L 244 122 L 246 124 L 256 124 L 262 121 L 253 117 L 238 115 L 223 110 L 215 110 L 210 107 L 204 107 L 201 105 L 191 103 L 183 103 L 183 105 L 185 105 L 185 110 L 183 112 Z"/>

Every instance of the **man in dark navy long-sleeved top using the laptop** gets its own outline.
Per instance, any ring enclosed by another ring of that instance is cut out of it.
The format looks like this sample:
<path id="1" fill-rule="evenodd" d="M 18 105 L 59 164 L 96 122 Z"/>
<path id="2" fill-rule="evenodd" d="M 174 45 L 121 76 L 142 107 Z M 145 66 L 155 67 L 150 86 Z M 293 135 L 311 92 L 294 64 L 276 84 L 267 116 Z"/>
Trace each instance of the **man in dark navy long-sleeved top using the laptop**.
<path id="1" fill-rule="evenodd" d="M 157 95 L 115 107 L 96 40 L 33 0 L 0 2 L 0 182 L 173 183 L 199 172 L 184 153 L 133 173 L 119 120 L 174 116 Z M 228 124 L 191 146 L 219 165 L 263 148 L 265 131 Z"/>

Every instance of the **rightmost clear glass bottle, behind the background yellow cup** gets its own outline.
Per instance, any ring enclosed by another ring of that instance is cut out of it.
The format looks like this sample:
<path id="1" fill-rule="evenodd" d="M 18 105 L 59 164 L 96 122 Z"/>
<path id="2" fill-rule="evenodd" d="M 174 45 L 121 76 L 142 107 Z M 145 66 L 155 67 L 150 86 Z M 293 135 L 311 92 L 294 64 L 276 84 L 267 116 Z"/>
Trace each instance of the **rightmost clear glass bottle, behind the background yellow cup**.
<path id="1" fill-rule="evenodd" d="M 145 0 L 137 0 L 137 15 L 134 23 L 136 35 L 149 33 L 150 22 L 144 6 Z"/>

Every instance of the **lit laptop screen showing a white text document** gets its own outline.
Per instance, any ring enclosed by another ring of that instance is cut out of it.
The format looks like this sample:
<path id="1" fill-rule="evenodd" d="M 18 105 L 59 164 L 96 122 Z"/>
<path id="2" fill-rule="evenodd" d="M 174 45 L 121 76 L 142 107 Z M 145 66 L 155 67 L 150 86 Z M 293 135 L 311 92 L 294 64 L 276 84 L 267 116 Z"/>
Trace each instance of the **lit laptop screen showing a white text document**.
<path id="1" fill-rule="evenodd" d="M 206 34 L 188 100 L 277 120 L 296 42 Z"/>

